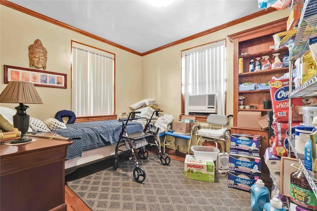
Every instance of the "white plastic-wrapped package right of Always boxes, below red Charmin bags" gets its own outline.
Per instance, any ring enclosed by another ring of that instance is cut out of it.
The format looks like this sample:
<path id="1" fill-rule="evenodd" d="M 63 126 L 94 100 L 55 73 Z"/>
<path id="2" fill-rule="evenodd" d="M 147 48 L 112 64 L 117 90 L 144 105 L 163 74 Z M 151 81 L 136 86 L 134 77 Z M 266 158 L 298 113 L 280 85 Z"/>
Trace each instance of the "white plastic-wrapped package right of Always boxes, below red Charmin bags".
<path id="1" fill-rule="evenodd" d="M 273 185 L 280 189 L 281 182 L 281 159 L 279 157 L 274 156 L 271 153 L 270 148 L 266 148 L 264 153 L 264 162 L 269 169 L 269 174 L 272 179 Z"/>

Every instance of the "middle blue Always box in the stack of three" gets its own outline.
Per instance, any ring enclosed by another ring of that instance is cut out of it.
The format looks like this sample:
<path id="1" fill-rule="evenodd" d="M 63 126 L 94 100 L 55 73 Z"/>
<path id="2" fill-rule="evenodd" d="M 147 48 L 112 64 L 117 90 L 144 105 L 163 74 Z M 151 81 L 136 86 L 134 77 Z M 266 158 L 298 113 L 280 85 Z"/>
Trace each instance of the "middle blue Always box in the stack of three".
<path id="1" fill-rule="evenodd" d="M 261 176 L 261 158 L 259 156 L 230 152 L 229 171 Z"/>

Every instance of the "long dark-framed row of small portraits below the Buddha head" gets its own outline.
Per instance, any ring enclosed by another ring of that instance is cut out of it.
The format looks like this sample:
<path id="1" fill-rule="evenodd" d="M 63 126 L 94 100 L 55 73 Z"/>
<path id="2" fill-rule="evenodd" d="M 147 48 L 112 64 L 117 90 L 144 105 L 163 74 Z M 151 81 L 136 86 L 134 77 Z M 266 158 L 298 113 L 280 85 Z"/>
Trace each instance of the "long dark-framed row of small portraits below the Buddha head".
<path id="1" fill-rule="evenodd" d="M 10 81 L 31 82 L 35 86 L 67 88 L 67 74 L 4 65 L 4 84 Z"/>

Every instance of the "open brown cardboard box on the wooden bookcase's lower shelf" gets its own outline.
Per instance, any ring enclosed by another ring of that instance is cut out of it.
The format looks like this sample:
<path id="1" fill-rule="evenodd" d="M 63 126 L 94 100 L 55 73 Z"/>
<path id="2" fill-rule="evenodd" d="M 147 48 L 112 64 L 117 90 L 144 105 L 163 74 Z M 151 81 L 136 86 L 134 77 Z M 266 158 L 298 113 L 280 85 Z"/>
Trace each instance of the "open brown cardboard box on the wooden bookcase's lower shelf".
<path id="1" fill-rule="evenodd" d="M 239 111 L 237 118 L 238 127 L 261 129 L 258 124 L 258 119 L 261 118 L 261 111 Z"/>

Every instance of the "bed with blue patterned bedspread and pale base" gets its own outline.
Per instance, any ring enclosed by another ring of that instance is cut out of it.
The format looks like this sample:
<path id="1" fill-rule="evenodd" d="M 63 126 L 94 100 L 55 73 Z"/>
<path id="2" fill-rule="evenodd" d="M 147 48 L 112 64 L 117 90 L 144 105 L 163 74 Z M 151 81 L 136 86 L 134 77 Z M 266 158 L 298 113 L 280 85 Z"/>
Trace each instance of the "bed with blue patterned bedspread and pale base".
<path id="1" fill-rule="evenodd" d="M 119 139 L 122 122 L 117 120 L 83 122 L 66 124 L 65 129 L 52 131 L 55 134 L 74 139 L 73 144 L 67 148 L 65 160 L 66 172 L 71 172 L 115 154 L 115 145 Z M 143 131 L 140 123 L 129 122 L 128 133 Z M 37 133 L 41 134 L 41 133 Z"/>

